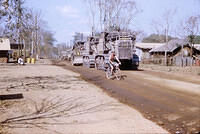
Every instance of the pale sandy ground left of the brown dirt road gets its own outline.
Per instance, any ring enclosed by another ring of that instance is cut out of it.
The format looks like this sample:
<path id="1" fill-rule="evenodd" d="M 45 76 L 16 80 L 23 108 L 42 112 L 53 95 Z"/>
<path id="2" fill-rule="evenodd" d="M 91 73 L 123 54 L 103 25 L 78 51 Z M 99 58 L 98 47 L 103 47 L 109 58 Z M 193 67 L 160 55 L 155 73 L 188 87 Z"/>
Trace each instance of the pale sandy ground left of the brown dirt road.
<path id="1" fill-rule="evenodd" d="M 0 100 L 0 133 L 168 133 L 67 69 L 0 66 L 0 74 L 0 95 L 23 96 Z"/>

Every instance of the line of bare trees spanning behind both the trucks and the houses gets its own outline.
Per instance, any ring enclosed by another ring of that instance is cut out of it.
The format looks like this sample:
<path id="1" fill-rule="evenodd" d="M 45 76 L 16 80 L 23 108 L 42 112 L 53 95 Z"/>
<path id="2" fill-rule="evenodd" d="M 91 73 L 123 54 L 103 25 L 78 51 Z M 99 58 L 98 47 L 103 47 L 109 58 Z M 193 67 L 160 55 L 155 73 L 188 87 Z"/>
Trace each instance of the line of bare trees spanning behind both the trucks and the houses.
<path id="1" fill-rule="evenodd" d="M 129 30 L 134 25 L 134 19 L 140 9 L 134 0 L 84 0 L 89 14 L 92 33 L 105 30 Z M 200 14 L 189 16 L 174 27 L 176 9 L 166 9 L 159 20 L 152 20 L 151 35 L 144 37 L 145 31 L 134 31 L 143 36 L 142 42 L 164 43 L 172 39 L 188 39 L 191 44 L 199 43 Z M 142 21 L 142 20 L 141 20 Z M 173 34 L 172 34 L 173 33 Z M 171 36 L 170 36 L 171 35 Z M 175 35 L 173 37 L 173 35 Z"/>

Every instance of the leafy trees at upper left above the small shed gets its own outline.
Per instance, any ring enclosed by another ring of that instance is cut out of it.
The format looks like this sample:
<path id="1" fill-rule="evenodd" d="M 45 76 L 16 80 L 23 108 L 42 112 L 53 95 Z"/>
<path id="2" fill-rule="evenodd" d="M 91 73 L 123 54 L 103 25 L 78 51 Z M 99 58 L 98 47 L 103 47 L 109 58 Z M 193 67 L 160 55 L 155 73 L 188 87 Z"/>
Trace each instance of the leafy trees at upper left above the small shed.
<path id="1" fill-rule="evenodd" d="M 42 13 L 26 7 L 25 2 L 0 1 L 0 36 L 8 37 L 17 44 L 24 44 L 24 49 L 28 50 L 31 57 L 56 57 L 58 48 L 54 46 L 54 33 L 42 19 Z"/>

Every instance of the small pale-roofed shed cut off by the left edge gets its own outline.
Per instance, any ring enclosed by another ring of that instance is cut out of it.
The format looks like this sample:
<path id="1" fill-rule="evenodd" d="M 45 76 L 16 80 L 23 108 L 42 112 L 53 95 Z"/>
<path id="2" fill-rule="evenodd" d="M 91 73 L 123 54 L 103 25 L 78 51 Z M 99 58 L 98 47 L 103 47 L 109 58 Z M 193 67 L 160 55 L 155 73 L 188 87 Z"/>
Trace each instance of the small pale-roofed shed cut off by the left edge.
<path id="1" fill-rule="evenodd" d="M 7 63 L 9 60 L 10 40 L 0 37 L 0 63 Z"/>

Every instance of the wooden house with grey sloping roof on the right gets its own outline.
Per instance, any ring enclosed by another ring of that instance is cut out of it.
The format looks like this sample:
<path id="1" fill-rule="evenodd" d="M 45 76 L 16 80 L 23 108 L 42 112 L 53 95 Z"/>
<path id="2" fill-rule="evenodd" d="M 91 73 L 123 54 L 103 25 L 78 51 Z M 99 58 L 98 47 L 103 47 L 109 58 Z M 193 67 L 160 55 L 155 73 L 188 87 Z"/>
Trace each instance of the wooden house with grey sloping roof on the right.
<path id="1" fill-rule="evenodd" d="M 171 40 L 167 44 L 150 50 L 151 62 L 163 65 L 190 66 L 200 50 L 190 46 L 186 40 Z"/>

